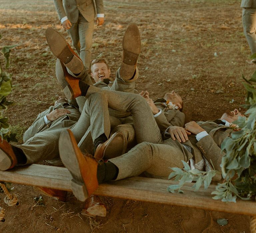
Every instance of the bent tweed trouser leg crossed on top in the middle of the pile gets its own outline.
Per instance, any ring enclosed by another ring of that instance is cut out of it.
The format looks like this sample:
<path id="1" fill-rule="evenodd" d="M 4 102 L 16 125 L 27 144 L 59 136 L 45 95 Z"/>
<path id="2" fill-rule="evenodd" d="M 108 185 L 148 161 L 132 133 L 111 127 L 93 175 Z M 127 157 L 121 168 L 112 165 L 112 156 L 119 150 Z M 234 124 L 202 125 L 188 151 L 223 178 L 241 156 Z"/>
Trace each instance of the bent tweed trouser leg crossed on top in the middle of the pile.
<path id="1" fill-rule="evenodd" d="M 143 97 L 138 94 L 103 90 L 90 86 L 87 96 L 93 93 L 101 93 L 107 99 L 109 108 L 131 113 L 138 143 L 143 141 L 163 142 L 152 111 Z"/>

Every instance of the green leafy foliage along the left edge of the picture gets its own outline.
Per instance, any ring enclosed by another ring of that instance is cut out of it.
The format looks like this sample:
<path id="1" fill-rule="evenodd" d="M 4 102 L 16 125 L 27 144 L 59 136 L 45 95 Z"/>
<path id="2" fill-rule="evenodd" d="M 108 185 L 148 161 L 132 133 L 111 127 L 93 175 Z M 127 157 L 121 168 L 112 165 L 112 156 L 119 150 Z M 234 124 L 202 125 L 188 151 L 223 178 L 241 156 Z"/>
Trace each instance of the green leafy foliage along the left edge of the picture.
<path id="1" fill-rule="evenodd" d="M 1 35 L 0 35 L 1 39 Z M 13 102 L 10 102 L 6 97 L 11 93 L 14 86 L 12 85 L 11 74 L 6 72 L 6 69 L 10 66 L 10 51 L 16 47 L 16 45 L 3 46 L 0 50 L 0 136 L 1 138 L 9 141 L 16 141 L 16 134 L 11 133 L 10 125 L 6 115 L 6 109 Z M 4 59 L 2 59 L 4 58 Z M 4 63 L 5 66 L 4 66 Z"/>

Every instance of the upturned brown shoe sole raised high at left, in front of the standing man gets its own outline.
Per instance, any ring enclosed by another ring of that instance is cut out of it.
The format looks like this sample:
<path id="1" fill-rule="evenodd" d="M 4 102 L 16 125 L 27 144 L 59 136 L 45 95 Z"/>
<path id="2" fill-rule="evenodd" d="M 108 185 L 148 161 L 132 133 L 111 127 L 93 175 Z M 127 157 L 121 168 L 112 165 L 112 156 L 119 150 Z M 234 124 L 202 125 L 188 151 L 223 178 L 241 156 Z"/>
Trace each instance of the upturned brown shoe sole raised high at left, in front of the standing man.
<path id="1" fill-rule="evenodd" d="M 53 55 L 74 74 L 79 74 L 84 69 L 84 64 L 79 56 L 69 46 L 66 39 L 54 28 L 45 31 L 46 40 Z"/>

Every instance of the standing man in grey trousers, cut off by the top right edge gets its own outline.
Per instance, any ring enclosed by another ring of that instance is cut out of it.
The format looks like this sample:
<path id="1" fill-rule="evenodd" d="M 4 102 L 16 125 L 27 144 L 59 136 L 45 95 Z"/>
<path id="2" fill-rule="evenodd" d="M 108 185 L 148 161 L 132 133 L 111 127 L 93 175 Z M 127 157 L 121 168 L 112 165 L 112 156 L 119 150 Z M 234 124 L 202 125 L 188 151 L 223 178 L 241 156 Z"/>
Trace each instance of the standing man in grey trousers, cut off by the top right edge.
<path id="1" fill-rule="evenodd" d="M 242 22 L 244 35 L 249 44 L 251 54 L 256 53 L 256 0 L 242 0 Z M 256 63 L 256 59 L 251 61 Z"/>

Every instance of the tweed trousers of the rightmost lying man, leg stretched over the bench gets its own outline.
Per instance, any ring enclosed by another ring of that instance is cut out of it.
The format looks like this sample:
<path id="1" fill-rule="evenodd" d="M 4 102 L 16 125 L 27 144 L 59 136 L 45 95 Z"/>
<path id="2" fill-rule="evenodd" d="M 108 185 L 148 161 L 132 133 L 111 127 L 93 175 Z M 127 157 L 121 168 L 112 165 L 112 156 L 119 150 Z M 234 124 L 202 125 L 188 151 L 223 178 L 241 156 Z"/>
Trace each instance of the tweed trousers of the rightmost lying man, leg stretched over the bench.
<path id="1" fill-rule="evenodd" d="M 187 162 L 183 151 L 166 142 L 164 144 L 142 142 L 127 153 L 109 159 L 119 169 L 116 180 L 138 176 L 141 173 L 151 178 L 168 179 L 172 172 L 171 167 L 183 168 L 181 160 Z"/>

